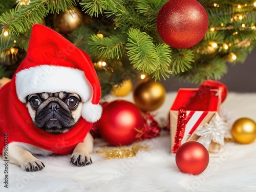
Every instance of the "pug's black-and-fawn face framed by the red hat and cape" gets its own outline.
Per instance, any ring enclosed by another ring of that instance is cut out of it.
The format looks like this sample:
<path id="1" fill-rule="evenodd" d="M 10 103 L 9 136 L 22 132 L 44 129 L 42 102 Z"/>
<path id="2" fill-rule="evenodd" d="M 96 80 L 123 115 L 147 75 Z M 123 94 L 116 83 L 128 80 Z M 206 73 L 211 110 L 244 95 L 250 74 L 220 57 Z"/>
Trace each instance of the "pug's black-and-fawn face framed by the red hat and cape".
<path id="1" fill-rule="evenodd" d="M 82 102 L 76 93 L 38 93 L 27 97 L 34 124 L 52 134 L 69 131 L 81 116 Z"/>

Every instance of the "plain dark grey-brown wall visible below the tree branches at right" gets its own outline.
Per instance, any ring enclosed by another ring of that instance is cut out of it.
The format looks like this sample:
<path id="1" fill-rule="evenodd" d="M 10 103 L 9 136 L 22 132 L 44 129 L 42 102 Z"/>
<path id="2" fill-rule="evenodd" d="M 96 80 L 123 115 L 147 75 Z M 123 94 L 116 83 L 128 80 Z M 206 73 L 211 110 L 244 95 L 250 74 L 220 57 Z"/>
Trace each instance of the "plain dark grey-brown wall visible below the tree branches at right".
<path id="1" fill-rule="evenodd" d="M 256 93 L 256 49 L 248 55 L 244 63 L 230 65 L 228 63 L 228 73 L 219 81 L 223 82 L 229 92 Z M 161 80 L 167 92 L 177 91 L 179 88 L 198 88 L 198 84 L 184 83 L 170 77 Z"/>

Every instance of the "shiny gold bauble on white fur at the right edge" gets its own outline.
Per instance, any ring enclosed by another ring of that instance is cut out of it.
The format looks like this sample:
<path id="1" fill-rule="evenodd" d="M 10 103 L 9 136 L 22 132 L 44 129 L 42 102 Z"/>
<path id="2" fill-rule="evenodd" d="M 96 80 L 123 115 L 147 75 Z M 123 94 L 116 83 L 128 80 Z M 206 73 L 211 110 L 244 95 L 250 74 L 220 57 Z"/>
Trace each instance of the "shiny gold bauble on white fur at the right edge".
<path id="1" fill-rule="evenodd" d="M 239 143 L 251 143 L 256 138 L 256 123 L 250 118 L 240 118 L 233 123 L 231 134 Z"/>

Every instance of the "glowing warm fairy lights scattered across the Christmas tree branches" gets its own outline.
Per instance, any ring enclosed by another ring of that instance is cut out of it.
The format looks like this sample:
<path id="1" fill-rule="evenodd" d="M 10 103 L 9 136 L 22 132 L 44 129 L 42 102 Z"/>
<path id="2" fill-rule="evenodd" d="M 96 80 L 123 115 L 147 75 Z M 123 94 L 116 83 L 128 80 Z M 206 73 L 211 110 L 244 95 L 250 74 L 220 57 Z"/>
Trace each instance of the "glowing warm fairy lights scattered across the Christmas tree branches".
<path id="1" fill-rule="evenodd" d="M 16 3 L 17 3 L 17 6 L 27 6 L 31 2 L 30 2 L 30 0 L 17 0 Z M 213 6 L 217 9 L 221 7 L 217 3 L 214 3 Z M 251 3 L 251 4 L 244 4 L 244 5 L 237 4 L 237 5 L 234 5 L 234 8 L 236 8 L 238 10 L 238 12 L 239 12 L 239 10 L 243 10 L 243 8 L 249 8 L 249 7 L 256 7 L 256 1 Z M 230 23 L 233 23 L 234 21 L 242 22 L 242 20 L 244 18 L 245 18 L 245 15 L 243 13 L 237 13 L 233 17 L 230 18 Z M 219 27 L 215 26 L 215 27 L 210 27 L 209 28 L 210 32 L 216 32 L 216 31 L 220 31 L 220 30 L 232 30 L 232 29 L 234 29 L 233 26 L 225 27 L 225 24 L 223 24 L 223 23 L 221 23 Z M 240 30 L 245 30 L 245 29 L 246 30 L 256 30 L 255 23 L 252 23 L 251 26 L 246 26 L 244 23 L 242 23 L 241 26 L 240 26 Z M 235 31 L 235 32 L 233 32 L 232 35 L 237 35 L 238 33 L 239 33 L 238 31 Z M 8 33 L 7 28 L 4 30 L 2 35 L 4 37 L 8 37 L 9 33 Z M 104 38 L 103 34 L 101 34 L 101 33 L 98 33 L 97 37 L 98 38 Z M 250 46 L 250 41 L 251 41 L 250 39 L 248 39 L 246 41 L 243 41 L 243 42 L 237 41 L 234 44 L 236 44 L 237 46 L 247 47 L 247 46 Z M 14 45 L 10 49 L 5 50 L 5 53 L 4 53 L 5 56 L 11 55 L 11 57 L 12 57 L 12 59 L 14 59 L 14 61 L 16 60 L 16 54 L 19 51 L 18 48 L 15 48 L 15 43 L 16 43 L 16 41 L 14 40 Z M 212 53 L 217 52 L 221 47 L 222 47 L 221 50 L 227 51 L 231 46 L 234 46 L 234 44 L 232 44 L 230 42 L 211 41 L 211 42 L 209 42 L 209 44 L 205 48 L 205 50 L 203 50 L 203 52 L 205 52 L 207 54 L 212 54 Z M 200 50 L 200 51 L 202 51 L 202 50 Z M 200 52 L 200 51 L 198 51 L 198 52 Z M 3 54 L 3 53 L 1 53 L 1 54 Z M 231 62 L 234 62 L 237 59 L 237 55 L 235 53 L 231 52 L 231 53 L 229 53 L 228 58 Z M 96 69 L 99 69 L 99 70 L 108 67 L 107 63 L 102 59 L 95 62 L 94 66 L 96 67 Z M 144 79 L 145 77 L 146 77 L 146 74 L 141 74 L 140 75 L 141 79 Z"/>

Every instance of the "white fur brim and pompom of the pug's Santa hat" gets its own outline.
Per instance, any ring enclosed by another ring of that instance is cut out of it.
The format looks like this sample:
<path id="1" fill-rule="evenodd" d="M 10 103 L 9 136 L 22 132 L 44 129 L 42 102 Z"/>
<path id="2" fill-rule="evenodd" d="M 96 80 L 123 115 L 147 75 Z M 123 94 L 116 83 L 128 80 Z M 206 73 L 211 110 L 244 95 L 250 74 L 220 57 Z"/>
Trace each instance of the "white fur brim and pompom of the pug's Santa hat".
<path id="1" fill-rule="evenodd" d="M 81 97 L 82 117 L 85 120 L 95 122 L 101 116 L 102 108 L 91 102 L 93 88 L 81 70 L 41 65 L 18 72 L 15 83 L 18 99 L 23 103 L 26 103 L 26 97 L 30 94 L 65 91 L 77 93 Z"/>

